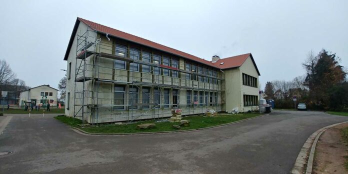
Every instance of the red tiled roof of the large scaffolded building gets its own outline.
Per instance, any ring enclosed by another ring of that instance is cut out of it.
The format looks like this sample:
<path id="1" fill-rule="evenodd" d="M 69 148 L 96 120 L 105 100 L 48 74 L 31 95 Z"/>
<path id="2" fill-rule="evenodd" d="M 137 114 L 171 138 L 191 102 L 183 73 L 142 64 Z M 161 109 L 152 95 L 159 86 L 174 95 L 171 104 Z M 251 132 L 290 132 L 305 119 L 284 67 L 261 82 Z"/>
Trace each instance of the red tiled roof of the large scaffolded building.
<path id="1" fill-rule="evenodd" d="M 132 42 L 135 42 L 138 44 L 142 44 L 142 45 L 149 46 L 149 47 L 152 47 L 155 49 L 159 49 L 161 51 L 165 51 L 165 52 L 168 52 L 168 53 L 171 53 L 174 55 L 178 55 L 178 56 L 181 56 L 181 57 L 193 60 L 193 61 L 197 61 L 197 62 L 206 64 L 206 65 L 209 65 L 212 67 L 216 67 L 216 68 L 226 69 L 226 68 L 232 68 L 232 67 L 239 67 L 245 61 L 245 59 L 250 55 L 254 65 L 255 65 L 255 68 L 258 72 L 257 66 L 252 58 L 251 53 L 223 58 L 223 59 L 220 59 L 217 62 L 213 63 L 211 61 L 199 58 L 199 57 L 191 55 L 189 53 L 182 52 L 182 51 L 179 51 L 177 49 L 174 49 L 174 48 L 171 48 L 168 46 L 164 46 L 162 44 L 159 44 L 159 43 L 156 43 L 156 42 L 153 42 L 153 41 L 150 41 L 150 40 L 147 40 L 147 39 L 144 39 L 144 38 L 141 38 L 141 37 L 138 37 L 138 36 L 135 36 L 135 35 L 132 35 L 132 34 L 129 34 L 129 33 L 126 33 L 126 32 L 123 32 L 123 31 L 99 24 L 99 23 L 95 23 L 95 22 L 92 22 L 92 21 L 89 21 L 89 20 L 86 20 L 86 19 L 83 19 L 80 17 L 77 17 L 77 19 L 76 19 L 73 31 L 72 31 L 71 36 L 70 36 L 68 47 L 67 47 L 66 52 L 65 52 L 64 60 L 67 60 L 67 56 L 68 56 L 68 53 L 70 51 L 70 47 L 72 45 L 72 41 L 73 41 L 73 38 L 75 36 L 75 33 L 77 31 L 77 27 L 78 27 L 78 24 L 80 21 L 85 23 L 87 26 L 91 27 L 92 29 L 95 29 L 98 32 L 105 33 L 105 34 L 108 33 L 109 35 L 112 35 L 114 37 L 122 38 L 122 39 L 129 40 L 129 41 L 132 41 Z M 220 62 L 222 62 L 222 61 L 224 63 L 222 65 L 220 65 Z"/>

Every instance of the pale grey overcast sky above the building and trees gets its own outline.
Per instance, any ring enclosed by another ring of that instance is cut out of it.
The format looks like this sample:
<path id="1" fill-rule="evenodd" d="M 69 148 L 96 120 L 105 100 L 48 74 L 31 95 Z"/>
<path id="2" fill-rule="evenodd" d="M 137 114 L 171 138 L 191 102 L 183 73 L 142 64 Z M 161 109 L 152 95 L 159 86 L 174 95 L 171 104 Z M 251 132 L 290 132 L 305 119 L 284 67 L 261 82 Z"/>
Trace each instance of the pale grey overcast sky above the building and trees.
<path id="1" fill-rule="evenodd" d="M 211 60 L 251 52 L 266 81 L 305 73 L 310 50 L 348 67 L 348 0 L 4 0 L 0 59 L 34 87 L 57 87 L 76 17 Z"/>

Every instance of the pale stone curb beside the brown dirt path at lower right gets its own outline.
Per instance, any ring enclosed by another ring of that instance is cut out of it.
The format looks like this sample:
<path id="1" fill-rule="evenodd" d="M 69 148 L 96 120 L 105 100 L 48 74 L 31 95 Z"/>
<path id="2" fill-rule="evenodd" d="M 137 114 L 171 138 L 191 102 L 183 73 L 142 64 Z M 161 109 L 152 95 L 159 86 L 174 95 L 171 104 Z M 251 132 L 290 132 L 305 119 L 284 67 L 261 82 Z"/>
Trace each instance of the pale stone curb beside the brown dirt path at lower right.
<path id="1" fill-rule="evenodd" d="M 292 170 L 290 173 L 293 174 L 310 174 L 313 167 L 313 158 L 315 153 L 315 147 L 316 143 L 318 142 L 318 139 L 320 135 L 327 129 L 339 124 L 347 123 L 348 121 L 338 122 L 335 124 L 331 124 L 325 127 L 322 127 L 318 130 L 316 130 L 314 133 L 312 133 L 307 140 L 304 142 L 301 150 L 299 151 L 296 161 L 293 164 Z M 306 166 L 306 167 L 305 167 Z"/>

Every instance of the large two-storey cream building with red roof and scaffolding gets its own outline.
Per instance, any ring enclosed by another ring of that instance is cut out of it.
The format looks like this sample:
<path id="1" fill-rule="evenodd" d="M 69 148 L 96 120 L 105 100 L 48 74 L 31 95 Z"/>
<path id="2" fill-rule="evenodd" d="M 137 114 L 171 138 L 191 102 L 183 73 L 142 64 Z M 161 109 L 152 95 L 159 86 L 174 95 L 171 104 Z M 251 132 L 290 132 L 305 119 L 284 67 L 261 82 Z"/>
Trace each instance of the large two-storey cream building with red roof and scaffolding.
<path id="1" fill-rule="evenodd" d="M 247 111 L 258 102 L 251 53 L 208 61 L 77 18 L 64 60 L 65 115 L 89 123 L 168 117 L 172 108 Z"/>

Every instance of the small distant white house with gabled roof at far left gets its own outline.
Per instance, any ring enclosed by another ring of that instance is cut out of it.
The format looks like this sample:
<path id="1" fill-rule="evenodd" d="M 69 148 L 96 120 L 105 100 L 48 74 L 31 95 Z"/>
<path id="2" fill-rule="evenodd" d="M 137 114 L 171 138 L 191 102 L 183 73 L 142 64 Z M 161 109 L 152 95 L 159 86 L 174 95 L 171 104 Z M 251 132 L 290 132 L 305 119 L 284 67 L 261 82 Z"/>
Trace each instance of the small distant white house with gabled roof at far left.
<path id="1" fill-rule="evenodd" d="M 25 105 L 25 103 L 32 103 L 33 105 L 50 105 L 57 104 L 58 89 L 43 84 L 40 86 L 32 87 L 20 92 L 19 105 Z"/>

